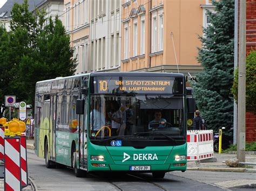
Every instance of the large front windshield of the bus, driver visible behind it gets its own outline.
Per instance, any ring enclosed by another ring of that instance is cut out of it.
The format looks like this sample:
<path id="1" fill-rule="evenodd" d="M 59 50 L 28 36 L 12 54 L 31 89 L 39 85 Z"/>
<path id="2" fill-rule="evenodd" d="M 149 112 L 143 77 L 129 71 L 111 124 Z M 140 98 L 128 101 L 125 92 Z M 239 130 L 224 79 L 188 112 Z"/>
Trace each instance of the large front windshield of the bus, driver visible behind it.
<path id="1" fill-rule="evenodd" d="M 91 95 L 90 139 L 100 145 L 126 139 L 177 144 L 185 139 L 183 108 L 183 96 Z"/>

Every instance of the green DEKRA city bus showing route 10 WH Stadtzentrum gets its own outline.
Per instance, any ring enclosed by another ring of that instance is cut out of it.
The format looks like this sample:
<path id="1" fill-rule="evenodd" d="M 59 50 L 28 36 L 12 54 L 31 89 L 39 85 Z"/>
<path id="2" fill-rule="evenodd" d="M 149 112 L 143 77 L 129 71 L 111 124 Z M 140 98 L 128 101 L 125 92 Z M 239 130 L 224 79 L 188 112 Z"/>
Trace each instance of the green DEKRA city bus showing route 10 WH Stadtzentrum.
<path id="1" fill-rule="evenodd" d="M 186 171 L 187 114 L 194 111 L 183 74 L 88 73 L 36 83 L 35 153 L 47 168 Z"/>

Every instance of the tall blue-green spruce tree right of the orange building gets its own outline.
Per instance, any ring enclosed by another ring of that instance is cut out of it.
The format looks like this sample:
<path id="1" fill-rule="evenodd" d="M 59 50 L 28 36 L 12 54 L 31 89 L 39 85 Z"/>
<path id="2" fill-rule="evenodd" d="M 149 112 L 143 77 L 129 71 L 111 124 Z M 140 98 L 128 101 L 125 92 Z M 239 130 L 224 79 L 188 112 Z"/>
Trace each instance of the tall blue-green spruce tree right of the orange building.
<path id="1" fill-rule="evenodd" d="M 233 57 L 234 57 L 234 1 L 222 0 L 213 3 L 215 12 L 207 11 L 211 25 L 203 29 L 199 37 L 198 61 L 203 72 L 192 83 L 194 97 L 208 127 L 218 130 L 233 126 Z"/>

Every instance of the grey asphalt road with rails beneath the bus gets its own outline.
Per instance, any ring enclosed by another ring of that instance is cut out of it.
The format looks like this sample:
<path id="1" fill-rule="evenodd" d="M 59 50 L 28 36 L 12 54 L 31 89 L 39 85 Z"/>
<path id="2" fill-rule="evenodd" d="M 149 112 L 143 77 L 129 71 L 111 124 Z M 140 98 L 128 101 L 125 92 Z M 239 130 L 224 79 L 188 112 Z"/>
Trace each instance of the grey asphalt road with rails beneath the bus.
<path id="1" fill-rule="evenodd" d="M 226 190 L 223 185 L 214 185 L 219 182 L 216 177 L 221 177 L 221 172 L 171 172 L 166 173 L 164 179 L 153 179 L 150 173 L 97 173 L 76 178 L 70 168 L 46 168 L 44 159 L 38 158 L 32 150 L 28 150 L 28 170 L 38 190 Z M 210 173 L 215 173 L 212 181 Z M 208 179 L 204 178 L 206 174 Z"/>

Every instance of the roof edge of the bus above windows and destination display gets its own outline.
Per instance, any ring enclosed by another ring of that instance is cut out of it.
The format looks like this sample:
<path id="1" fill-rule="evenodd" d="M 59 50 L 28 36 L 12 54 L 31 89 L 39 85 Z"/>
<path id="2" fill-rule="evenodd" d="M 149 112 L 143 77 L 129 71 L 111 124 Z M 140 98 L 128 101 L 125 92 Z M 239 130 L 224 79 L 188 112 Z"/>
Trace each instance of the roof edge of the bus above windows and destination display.
<path id="1" fill-rule="evenodd" d="M 78 75 L 72 75 L 72 76 L 66 76 L 66 77 L 56 77 L 56 79 L 50 79 L 50 80 L 43 80 L 38 81 L 37 83 L 41 82 L 49 82 L 49 81 L 55 81 L 55 80 L 61 80 L 61 79 L 69 79 L 73 77 L 82 77 L 82 76 L 163 76 L 163 77 L 183 77 L 184 74 L 179 73 L 160 73 L 160 72 L 95 72 L 95 73 L 85 73 L 85 74 L 78 74 Z"/>

